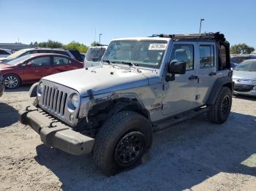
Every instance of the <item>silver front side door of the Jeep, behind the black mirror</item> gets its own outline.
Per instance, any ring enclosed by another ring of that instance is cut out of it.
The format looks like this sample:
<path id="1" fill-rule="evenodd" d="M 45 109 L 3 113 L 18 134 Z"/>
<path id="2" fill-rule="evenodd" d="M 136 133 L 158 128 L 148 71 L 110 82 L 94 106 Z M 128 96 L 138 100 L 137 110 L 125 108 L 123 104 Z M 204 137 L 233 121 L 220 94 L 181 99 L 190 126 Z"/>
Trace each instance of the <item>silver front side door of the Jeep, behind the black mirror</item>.
<path id="1" fill-rule="evenodd" d="M 162 113 L 174 115 L 196 106 L 197 68 L 195 67 L 196 42 L 173 42 L 170 61 L 187 63 L 186 74 L 176 74 L 175 80 L 166 82 L 167 90 L 162 100 Z"/>

